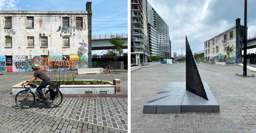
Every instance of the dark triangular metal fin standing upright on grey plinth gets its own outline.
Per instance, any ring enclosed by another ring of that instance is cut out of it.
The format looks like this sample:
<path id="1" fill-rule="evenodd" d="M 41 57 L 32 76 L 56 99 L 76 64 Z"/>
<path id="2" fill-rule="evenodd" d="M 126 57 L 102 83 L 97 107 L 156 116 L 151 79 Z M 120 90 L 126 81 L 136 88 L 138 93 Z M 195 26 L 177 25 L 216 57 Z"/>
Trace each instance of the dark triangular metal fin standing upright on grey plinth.
<path id="1" fill-rule="evenodd" d="M 186 36 L 186 90 L 208 100 L 204 88 Z"/>

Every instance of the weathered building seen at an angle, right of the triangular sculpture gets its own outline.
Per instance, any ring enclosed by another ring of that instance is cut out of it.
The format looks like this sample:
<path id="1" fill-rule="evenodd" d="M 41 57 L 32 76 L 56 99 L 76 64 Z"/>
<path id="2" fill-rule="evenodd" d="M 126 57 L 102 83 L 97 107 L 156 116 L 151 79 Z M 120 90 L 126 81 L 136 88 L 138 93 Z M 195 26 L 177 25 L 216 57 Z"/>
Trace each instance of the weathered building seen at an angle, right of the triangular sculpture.
<path id="1" fill-rule="evenodd" d="M 242 40 L 244 37 L 244 26 L 240 25 L 240 18 L 236 19 L 236 25 L 221 34 L 204 42 L 204 59 L 206 63 L 215 63 L 227 60 L 227 46 L 230 46 L 231 63 L 238 63 L 242 59 Z"/>

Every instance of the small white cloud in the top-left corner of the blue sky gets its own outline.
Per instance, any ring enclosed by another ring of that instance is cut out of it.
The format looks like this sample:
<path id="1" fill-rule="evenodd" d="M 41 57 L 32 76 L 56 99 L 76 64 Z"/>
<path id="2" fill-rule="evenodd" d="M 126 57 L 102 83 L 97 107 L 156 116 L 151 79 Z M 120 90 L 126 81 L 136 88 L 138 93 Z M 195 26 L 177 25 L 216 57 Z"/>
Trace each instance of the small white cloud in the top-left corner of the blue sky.
<path id="1" fill-rule="evenodd" d="M 16 7 L 17 3 L 19 3 L 19 0 L 0 0 L 0 10 L 18 10 Z"/>

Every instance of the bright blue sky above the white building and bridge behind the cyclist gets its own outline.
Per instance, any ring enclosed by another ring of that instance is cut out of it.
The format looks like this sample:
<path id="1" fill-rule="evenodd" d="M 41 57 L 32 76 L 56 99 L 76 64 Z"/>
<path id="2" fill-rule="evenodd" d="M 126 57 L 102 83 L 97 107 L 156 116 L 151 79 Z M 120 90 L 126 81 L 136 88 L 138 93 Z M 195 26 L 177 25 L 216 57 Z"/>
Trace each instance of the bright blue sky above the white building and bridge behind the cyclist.
<path id="1" fill-rule="evenodd" d="M 85 0 L 0 0 L 0 10 L 85 11 Z M 128 33 L 126 0 L 91 0 L 92 34 Z M 105 21 L 105 22 L 99 22 Z M 124 50 L 127 52 L 127 49 Z M 92 51 L 102 55 L 106 50 Z"/>

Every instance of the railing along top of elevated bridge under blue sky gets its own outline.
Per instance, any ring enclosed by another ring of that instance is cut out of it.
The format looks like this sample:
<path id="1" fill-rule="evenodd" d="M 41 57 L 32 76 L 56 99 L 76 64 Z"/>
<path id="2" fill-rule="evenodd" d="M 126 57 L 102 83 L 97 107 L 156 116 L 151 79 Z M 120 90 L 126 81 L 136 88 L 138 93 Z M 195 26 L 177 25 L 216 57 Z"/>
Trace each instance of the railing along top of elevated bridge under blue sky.
<path id="1" fill-rule="evenodd" d="M 120 36 L 121 39 L 127 39 L 128 33 L 93 34 L 92 40 L 111 39 L 112 36 L 114 37 Z"/>

